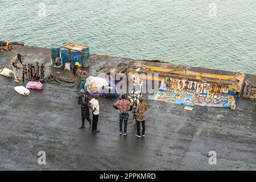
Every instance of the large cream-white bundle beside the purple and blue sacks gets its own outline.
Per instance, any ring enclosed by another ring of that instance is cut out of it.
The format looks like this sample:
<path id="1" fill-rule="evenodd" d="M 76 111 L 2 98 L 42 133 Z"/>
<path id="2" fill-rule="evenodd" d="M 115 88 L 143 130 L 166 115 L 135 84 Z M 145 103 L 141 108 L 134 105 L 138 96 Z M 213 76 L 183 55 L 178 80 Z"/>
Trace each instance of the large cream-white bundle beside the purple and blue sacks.
<path id="1" fill-rule="evenodd" d="M 102 86 L 108 86 L 108 81 L 101 77 L 89 76 L 86 79 L 85 88 L 89 93 L 103 93 Z"/>

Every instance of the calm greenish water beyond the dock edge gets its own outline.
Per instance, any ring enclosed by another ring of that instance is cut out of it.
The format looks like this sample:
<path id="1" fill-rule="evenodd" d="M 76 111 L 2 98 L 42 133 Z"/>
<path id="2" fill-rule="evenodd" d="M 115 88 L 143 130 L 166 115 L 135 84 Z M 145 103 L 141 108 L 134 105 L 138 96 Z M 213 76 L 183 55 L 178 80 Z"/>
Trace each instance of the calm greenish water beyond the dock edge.
<path id="1" fill-rule="evenodd" d="M 256 74 L 255 0 L 0 1 L 0 40 Z"/>

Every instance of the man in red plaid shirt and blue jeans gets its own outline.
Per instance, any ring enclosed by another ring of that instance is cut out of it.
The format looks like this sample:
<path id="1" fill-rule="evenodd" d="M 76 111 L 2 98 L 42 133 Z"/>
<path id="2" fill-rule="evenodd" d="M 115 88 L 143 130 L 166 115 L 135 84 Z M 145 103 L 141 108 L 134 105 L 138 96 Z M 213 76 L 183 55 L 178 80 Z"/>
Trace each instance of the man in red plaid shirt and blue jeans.
<path id="1" fill-rule="evenodd" d="M 126 100 L 125 94 L 121 95 L 121 100 L 115 102 L 113 105 L 115 109 L 119 109 L 119 131 L 120 135 L 126 136 L 127 133 L 127 122 L 129 118 L 129 113 L 128 111 L 131 111 L 133 109 L 133 104 L 131 102 Z M 124 127 L 124 133 L 123 133 L 123 121 L 125 121 L 125 127 Z"/>

